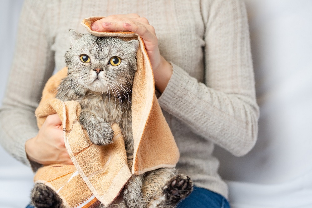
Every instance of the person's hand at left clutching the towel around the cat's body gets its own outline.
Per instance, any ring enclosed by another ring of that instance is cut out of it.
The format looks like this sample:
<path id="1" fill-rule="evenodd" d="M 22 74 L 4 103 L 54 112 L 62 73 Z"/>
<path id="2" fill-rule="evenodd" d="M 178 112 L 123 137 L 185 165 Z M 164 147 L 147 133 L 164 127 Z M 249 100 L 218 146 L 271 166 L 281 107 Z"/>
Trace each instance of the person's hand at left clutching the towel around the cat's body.
<path id="1" fill-rule="evenodd" d="M 25 143 L 25 151 L 31 161 L 42 165 L 73 165 L 64 143 L 62 122 L 57 114 L 47 116 L 36 137 Z"/>

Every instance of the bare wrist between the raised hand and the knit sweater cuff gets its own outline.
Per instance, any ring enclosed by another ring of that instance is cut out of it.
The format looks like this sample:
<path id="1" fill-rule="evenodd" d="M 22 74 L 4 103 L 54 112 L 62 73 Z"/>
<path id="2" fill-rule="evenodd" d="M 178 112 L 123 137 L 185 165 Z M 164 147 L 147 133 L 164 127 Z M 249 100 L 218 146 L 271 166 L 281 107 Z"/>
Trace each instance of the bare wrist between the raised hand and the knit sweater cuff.
<path id="1" fill-rule="evenodd" d="M 172 65 L 161 57 L 161 64 L 154 70 L 155 87 L 160 93 L 163 93 L 172 76 Z"/>

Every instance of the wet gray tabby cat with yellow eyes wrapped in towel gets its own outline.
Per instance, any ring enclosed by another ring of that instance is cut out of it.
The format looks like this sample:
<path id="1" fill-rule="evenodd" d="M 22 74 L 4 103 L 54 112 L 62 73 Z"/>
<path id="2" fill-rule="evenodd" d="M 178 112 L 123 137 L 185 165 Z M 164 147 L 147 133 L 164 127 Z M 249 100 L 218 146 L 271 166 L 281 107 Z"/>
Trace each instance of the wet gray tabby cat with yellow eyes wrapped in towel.
<path id="1" fill-rule="evenodd" d="M 69 33 L 71 50 L 65 55 L 68 76 L 61 82 L 56 98 L 80 103 L 80 124 L 96 145 L 112 143 L 110 125 L 119 124 L 131 170 L 134 151 L 131 89 L 139 41 L 83 35 L 75 30 Z M 178 174 L 174 168 L 160 168 L 133 175 L 124 187 L 122 201 L 117 203 L 129 208 L 171 208 L 188 196 L 192 188 L 188 176 Z M 33 188 L 32 203 L 38 208 L 64 207 L 57 194 L 41 183 Z"/>

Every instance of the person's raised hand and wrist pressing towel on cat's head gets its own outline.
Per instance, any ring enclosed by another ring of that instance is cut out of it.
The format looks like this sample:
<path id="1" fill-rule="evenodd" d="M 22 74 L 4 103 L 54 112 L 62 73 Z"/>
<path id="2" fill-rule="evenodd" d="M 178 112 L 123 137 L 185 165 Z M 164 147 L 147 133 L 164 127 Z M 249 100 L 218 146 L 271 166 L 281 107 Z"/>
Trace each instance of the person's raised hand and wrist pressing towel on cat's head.
<path id="1" fill-rule="evenodd" d="M 172 66 L 160 55 L 155 29 L 146 18 L 138 14 L 111 15 L 93 22 L 91 29 L 97 32 L 131 31 L 142 37 L 153 68 L 155 86 L 163 92 L 172 75 Z"/>

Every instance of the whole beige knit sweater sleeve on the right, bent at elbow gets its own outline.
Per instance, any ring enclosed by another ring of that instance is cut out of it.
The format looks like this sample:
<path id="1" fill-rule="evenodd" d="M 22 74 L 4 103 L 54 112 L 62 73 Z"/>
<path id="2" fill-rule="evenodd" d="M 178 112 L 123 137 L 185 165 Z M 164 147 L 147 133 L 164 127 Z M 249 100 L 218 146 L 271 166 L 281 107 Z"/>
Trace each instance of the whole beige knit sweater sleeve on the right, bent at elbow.
<path id="1" fill-rule="evenodd" d="M 202 5 L 205 81 L 171 63 L 173 74 L 158 102 L 194 133 L 243 156 L 255 145 L 256 103 L 246 8 L 242 1 Z"/>

